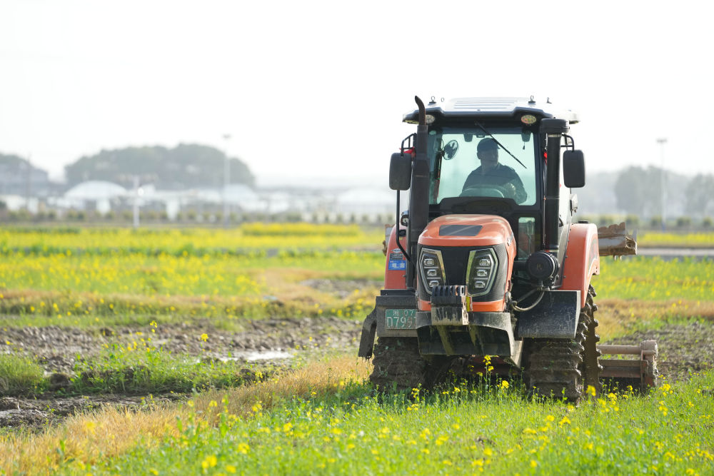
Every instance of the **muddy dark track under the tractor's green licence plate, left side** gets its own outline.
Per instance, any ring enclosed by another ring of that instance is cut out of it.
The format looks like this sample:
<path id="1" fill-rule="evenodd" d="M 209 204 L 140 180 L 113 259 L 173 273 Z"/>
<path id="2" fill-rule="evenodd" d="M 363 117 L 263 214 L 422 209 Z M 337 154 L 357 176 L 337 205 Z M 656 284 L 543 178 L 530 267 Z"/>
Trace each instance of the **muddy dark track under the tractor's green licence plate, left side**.
<path id="1" fill-rule="evenodd" d="M 416 338 L 378 338 L 373 350 L 369 380 L 382 392 L 401 392 L 413 388 L 431 388 L 446 375 L 452 358 L 419 353 Z"/>

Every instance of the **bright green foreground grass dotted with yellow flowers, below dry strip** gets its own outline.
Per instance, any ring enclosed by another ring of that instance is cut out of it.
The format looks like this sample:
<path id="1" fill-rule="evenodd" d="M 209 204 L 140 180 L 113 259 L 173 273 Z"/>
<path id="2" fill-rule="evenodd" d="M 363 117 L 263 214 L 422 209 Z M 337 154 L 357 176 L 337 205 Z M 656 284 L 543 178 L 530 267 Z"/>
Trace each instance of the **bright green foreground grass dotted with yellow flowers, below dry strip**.
<path id="1" fill-rule="evenodd" d="M 714 373 L 647 396 L 578 407 L 532 402 L 521 388 L 457 385 L 426 397 L 359 383 L 287 400 L 248 417 L 178 420 L 178 437 L 68 474 L 708 474 L 714 465 Z M 221 407 L 225 406 L 222 410 Z M 207 425 L 206 420 L 214 422 Z"/>

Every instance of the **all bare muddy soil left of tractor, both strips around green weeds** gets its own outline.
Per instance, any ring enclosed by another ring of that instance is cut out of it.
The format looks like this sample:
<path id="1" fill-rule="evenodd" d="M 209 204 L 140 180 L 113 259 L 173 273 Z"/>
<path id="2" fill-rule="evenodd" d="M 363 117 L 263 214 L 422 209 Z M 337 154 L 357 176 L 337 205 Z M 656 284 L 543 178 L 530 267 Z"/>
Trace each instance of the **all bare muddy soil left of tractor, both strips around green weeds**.
<path id="1" fill-rule="evenodd" d="M 201 360 L 238 360 L 248 370 L 289 368 L 298 355 L 330 349 L 354 348 L 361 322 L 336 317 L 268 319 L 248 321 L 246 330 L 231 332 L 215 327 L 210 321 L 159 325 L 157 328 L 100 328 L 83 330 L 49 326 L 44 328 L 0 328 L 0 353 L 22 353 L 43 365 L 51 390 L 76 375 L 78 358 L 91 358 L 105 345 L 127 345 L 151 338 L 151 344 L 173 355 L 193 355 Z M 152 329 L 154 332 L 152 332 Z M 206 334 L 206 340 L 201 335 Z M 8 344 L 9 342 L 9 344 Z M 56 383 L 56 385 L 55 385 Z M 66 397 L 48 392 L 36 398 L 1 395 L 0 427 L 41 427 L 82 410 L 102 405 L 141 408 L 181 399 L 166 395 L 87 395 Z M 153 398 L 153 401 L 151 400 Z"/>

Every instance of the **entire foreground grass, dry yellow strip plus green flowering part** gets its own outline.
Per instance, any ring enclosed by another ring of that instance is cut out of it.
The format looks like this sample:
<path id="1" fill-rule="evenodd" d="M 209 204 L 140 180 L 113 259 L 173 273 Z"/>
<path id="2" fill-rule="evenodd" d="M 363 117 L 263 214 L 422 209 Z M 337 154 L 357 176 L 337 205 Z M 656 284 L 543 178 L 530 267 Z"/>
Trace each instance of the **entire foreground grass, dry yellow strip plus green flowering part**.
<path id="1" fill-rule="evenodd" d="M 358 364 L 315 363 L 168 409 L 71 417 L 5 436 L 0 461 L 6 472 L 83 475 L 707 474 L 714 464 L 713 373 L 575 407 L 503 383 L 385 396 Z"/>

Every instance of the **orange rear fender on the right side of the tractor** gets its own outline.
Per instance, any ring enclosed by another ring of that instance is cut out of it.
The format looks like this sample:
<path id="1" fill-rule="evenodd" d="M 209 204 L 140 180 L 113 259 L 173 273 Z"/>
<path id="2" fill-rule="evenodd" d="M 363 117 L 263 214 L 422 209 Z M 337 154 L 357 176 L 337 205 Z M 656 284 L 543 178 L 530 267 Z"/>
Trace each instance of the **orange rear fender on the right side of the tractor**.
<path id="1" fill-rule="evenodd" d="M 563 285 L 561 290 L 579 290 L 580 308 L 585 307 L 588 288 L 593 275 L 600 274 L 598 227 L 593 223 L 570 225 L 568 243 L 565 245 Z"/>

